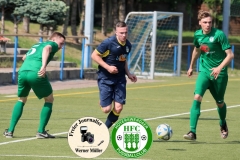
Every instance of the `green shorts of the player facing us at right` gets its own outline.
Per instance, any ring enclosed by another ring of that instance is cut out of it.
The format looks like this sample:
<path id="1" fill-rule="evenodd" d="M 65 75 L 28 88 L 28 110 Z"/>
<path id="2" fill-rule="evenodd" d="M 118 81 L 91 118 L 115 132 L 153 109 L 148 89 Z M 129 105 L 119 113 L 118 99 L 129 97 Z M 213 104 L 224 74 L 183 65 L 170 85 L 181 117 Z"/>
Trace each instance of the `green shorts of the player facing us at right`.
<path id="1" fill-rule="evenodd" d="M 199 72 L 194 94 L 199 94 L 203 97 L 205 91 L 209 89 L 216 103 L 220 104 L 224 102 L 227 83 L 228 75 L 218 76 L 217 79 L 214 79 L 205 72 Z"/>

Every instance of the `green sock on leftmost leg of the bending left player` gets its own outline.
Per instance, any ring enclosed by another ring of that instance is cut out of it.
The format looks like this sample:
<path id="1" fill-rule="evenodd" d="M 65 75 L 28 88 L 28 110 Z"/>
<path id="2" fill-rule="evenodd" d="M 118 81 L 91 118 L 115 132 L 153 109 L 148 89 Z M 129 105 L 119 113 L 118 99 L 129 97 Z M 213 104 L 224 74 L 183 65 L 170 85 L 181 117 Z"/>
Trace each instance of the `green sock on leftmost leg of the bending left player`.
<path id="1" fill-rule="evenodd" d="M 8 132 L 14 132 L 15 126 L 17 125 L 18 120 L 22 116 L 23 106 L 25 104 L 21 101 L 17 101 L 12 111 L 12 118 L 10 121 L 10 127 L 8 128 Z"/>

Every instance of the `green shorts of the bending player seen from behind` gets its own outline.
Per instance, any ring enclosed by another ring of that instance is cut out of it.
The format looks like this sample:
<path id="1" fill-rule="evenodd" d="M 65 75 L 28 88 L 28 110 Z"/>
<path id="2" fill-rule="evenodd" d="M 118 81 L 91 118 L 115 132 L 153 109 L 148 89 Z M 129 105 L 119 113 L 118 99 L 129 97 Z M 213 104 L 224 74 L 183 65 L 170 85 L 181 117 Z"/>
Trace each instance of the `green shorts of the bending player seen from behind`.
<path id="1" fill-rule="evenodd" d="M 41 78 L 36 71 L 20 71 L 18 73 L 18 97 L 27 97 L 31 89 L 39 99 L 48 97 L 53 92 L 47 76 Z"/>

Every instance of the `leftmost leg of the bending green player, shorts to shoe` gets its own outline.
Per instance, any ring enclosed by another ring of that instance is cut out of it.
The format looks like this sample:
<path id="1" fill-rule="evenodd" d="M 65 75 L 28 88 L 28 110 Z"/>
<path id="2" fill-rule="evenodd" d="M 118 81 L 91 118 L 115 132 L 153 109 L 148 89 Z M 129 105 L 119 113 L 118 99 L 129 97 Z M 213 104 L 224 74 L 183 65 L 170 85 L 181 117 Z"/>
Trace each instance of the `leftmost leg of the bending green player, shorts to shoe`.
<path id="1" fill-rule="evenodd" d="M 4 135 L 7 138 L 13 137 L 15 127 L 22 116 L 23 107 L 27 102 L 27 96 L 31 90 L 30 85 L 27 83 L 27 71 L 18 73 L 18 97 L 19 100 L 15 103 L 10 120 L 10 126 L 5 130 Z"/>

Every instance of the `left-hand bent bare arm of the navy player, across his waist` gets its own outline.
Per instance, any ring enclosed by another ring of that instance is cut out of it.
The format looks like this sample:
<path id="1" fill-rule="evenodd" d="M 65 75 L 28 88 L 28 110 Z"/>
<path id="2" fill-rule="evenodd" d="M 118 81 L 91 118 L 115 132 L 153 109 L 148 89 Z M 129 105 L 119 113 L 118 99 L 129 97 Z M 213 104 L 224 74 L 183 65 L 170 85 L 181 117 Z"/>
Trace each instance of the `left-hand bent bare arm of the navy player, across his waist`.
<path id="1" fill-rule="evenodd" d="M 116 74 L 116 73 L 118 73 L 117 67 L 115 67 L 115 66 L 110 66 L 110 65 L 108 65 L 106 62 L 104 62 L 104 61 L 102 60 L 101 55 L 99 55 L 99 53 L 98 53 L 96 50 L 93 51 L 93 53 L 92 53 L 92 55 L 91 55 L 91 58 L 92 58 L 97 64 L 99 64 L 100 66 L 102 66 L 103 68 L 105 68 L 109 73 L 111 73 L 111 74 Z"/>

